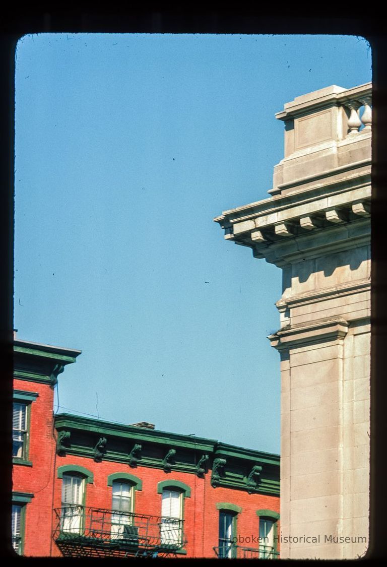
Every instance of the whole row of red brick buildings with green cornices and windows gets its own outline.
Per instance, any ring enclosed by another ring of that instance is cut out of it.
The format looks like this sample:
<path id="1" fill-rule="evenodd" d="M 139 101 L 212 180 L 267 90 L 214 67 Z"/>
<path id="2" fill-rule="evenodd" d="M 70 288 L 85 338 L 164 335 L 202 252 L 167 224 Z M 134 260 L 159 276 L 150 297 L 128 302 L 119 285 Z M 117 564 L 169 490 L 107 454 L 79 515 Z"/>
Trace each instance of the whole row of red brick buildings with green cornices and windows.
<path id="1" fill-rule="evenodd" d="M 147 423 L 54 416 L 57 376 L 79 354 L 15 340 L 16 551 L 278 557 L 279 456 Z"/>

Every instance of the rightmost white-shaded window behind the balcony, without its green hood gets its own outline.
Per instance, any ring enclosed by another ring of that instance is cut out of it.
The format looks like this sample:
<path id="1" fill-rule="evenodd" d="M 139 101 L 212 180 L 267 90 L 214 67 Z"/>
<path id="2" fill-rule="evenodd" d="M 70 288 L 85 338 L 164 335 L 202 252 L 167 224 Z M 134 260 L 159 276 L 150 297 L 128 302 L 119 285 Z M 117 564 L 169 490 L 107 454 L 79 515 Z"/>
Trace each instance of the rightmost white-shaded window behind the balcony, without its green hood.
<path id="1" fill-rule="evenodd" d="M 160 539 L 163 544 L 182 543 L 182 492 L 164 488 L 161 501 Z"/>

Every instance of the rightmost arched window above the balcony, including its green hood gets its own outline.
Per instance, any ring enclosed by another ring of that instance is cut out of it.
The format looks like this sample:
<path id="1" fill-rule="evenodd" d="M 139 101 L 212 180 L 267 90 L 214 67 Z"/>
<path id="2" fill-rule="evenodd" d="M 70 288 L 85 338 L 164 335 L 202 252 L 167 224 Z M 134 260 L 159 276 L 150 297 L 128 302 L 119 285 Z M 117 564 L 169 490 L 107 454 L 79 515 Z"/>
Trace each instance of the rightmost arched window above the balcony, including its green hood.
<path id="1" fill-rule="evenodd" d="M 160 542 L 168 545 L 184 544 L 184 499 L 191 496 L 191 489 L 180 481 L 158 483 L 161 494 Z"/>

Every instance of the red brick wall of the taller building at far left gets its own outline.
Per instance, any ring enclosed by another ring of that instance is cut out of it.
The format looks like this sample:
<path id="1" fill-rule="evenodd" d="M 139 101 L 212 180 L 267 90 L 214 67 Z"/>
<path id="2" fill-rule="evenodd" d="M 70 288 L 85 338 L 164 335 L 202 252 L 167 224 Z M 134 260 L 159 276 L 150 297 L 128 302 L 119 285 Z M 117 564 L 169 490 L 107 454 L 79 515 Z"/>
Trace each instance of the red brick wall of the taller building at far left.
<path id="1" fill-rule="evenodd" d="M 49 556 L 52 543 L 53 460 L 56 442 L 53 438 L 54 391 L 48 384 L 14 380 L 15 390 L 37 392 L 31 403 L 28 460 L 32 467 L 15 464 L 13 492 L 34 494 L 27 503 L 24 531 L 24 555 Z"/>

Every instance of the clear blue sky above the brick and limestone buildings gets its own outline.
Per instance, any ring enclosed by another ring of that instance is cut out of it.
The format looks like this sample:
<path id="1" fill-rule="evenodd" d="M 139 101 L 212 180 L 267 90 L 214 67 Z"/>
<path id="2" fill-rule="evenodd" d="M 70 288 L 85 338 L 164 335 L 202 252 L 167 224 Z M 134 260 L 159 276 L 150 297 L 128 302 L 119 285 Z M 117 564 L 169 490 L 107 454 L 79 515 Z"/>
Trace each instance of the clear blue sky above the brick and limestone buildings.
<path id="1" fill-rule="evenodd" d="M 279 452 L 281 272 L 212 219 L 268 197 L 284 103 L 371 81 L 367 42 L 46 33 L 15 81 L 15 328 L 82 350 L 57 411 Z"/>

